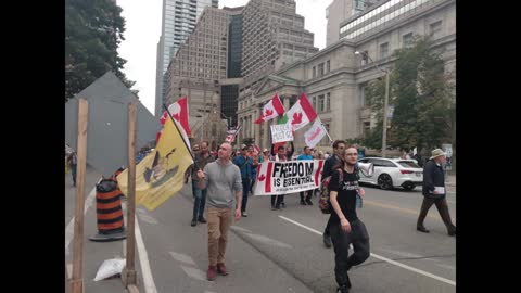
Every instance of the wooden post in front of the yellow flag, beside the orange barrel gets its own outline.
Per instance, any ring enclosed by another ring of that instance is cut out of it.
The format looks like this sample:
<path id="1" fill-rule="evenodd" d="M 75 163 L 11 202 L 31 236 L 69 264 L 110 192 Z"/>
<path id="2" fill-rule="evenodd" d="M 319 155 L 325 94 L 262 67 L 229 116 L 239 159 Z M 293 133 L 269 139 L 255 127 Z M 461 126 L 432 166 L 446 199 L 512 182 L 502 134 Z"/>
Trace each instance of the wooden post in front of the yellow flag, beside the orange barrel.
<path id="1" fill-rule="evenodd" d="M 135 268 L 136 234 L 136 103 L 128 105 L 128 199 L 127 199 L 127 263 L 125 266 L 124 284 L 126 288 L 137 284 Z"/>

